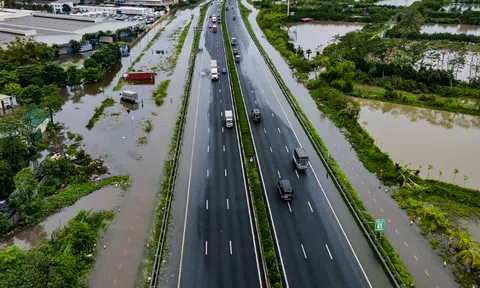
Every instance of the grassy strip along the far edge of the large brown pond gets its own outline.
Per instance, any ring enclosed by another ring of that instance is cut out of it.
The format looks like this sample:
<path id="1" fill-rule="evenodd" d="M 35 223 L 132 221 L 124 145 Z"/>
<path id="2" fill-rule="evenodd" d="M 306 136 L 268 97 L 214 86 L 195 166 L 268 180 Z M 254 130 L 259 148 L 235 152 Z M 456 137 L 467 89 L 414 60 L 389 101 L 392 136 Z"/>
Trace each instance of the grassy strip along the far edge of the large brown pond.
<path id="1" fill-rule="evenodd" d="M 421 108 L 443 110 L 459 114 L 480 116 L 480 109 L 468 105 L 454 98 L 440 97 L 433 94 L 413 94 L 405 91 L 392 91 L 390 93 L 382 87 L 369 85 L 355 85 L 350 96 L 409 105 Z"/>

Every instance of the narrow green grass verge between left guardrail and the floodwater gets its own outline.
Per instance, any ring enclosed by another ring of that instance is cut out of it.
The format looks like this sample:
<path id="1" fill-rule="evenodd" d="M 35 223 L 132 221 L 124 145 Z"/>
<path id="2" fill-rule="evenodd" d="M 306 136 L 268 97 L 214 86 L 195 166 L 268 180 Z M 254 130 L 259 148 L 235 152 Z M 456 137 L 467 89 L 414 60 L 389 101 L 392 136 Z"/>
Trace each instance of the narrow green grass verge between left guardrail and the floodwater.
<path id="1" fill-rule="evenodd" d="M 204 22 L 205 15 L 210 5 L 210 2 L 204 4 L 200 9 L 200 17 L 198 19 L 197 25 L 202 25 L 202 23 Z M 183 96 L 182 96 L 182 106 L 180 108 L 177 122 L 175 123 L 175 128 L 173 130 L 173 136 L 172 136 L 172 141 L 170 143 L 167 160 L 165 161 L 165 164 L 164 164 L 164 172 L 162 173 L 162 175 L 164 175 L 164 179 L 162 181 L 162 186 L 160 189 L 160 200 L 157 208 L 155 209 L 156 211 L 155 219 L 152 223 L 152 227 L 150 229 L 151 231 L 149 233 L 150 236 L 149 236 L 148 245 L 147 245 L 148 248 L 146 251 L 147 256 L 142 261 L 143 277 L 141 279 L 140 287 L 149 287 L 150 281 L 148 280 L 148 278 L 152 275 L 153 261 L 155 260 L 156 248 L 158 245 L 160 235 L 162 234 L 163 221 L 165 216 L 169 216 L 169 215 L 165 215 L 166 207 L 167 207 L 167 204 L 169 204 L 169 201 L 171 201 L 173 194 L 175 192 L 174 188 L 172 187 L 174 185 L 171 185 L 172 181 L 175 181 L 175 177 L 172 178 L 172 176 L 174 176 L 173 169 L 176 169 L 174 163 L 175 161 L 177 161 L 176 158 L 178 157 L 178 152 L 180 149 L 179 145 L 181 144 L 183 127 L 184 127 L 185 119 L 188 112 L 188 100 L 190 98 L 191 83 L 193 79 L 193 72 L 195 69 L 195 59 L 197 57 L 197 49 L 198 49 L 198 45 L 200 44 L 200 37 L 201 37 L 200 33 L 195 33 L 193 38 L 192 50 L 190 52 L 190 59 L 188 61 L 187 81 L 186 81 Z M 165 228 L 168 229 L 168 225 L 165 225 Z M 168 231 L 163 231 L 165 235 L 167 235 L 167 232 Z M 165 249 L 166 245 L 164 245 L 163 247 Z M 162 259 L 163 252 L 164 251 L 160 251 L 160 255 L 157 255 L 160 258 L 160 260 Z M 159 265 L 162 265 L 161 261 Z"/>

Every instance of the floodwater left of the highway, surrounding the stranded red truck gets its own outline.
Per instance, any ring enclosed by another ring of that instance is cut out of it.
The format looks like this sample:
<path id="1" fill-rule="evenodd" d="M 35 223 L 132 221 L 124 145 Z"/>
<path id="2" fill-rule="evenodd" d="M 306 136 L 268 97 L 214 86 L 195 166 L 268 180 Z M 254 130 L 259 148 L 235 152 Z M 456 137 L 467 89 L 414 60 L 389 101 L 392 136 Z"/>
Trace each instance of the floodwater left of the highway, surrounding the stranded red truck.
<path id="1" fill-rule="evenodd" d="M 154 66 L 161 65 L 166 57 L 171 56 L 178 40 L 169 39 L 168 36 L 178 27 L 185 27 L 191 19 L 191 13 L 198 15 L 198 9 L 194 11 L 185 10 L 178 12 L 175 16 L 167 17 L 133 47 L 130 57 L 123 58 L 120 64 L 112 67 L 102 81 L 61 90 L 65 103 L 62 111 L 55 115 L 54 120 L 64 123 L 67 131 L 81 134 L 85 143 L 82 148 L 93 158 L 105 159 L 105 165 L 112 174 L 131 175 L 130 189 L 120 199 L 113 192 L 105 192 L 108 188 L 92 193 L 59 214 L 51 216 L 37 227 L 25 229 L 18 237 L 10 239 L 8 245 L 18 244 L 24 248 L 35 245 L 38 243 L 38 238 L 47 236 L 54 227 L 59 225 L 59 219 L 61 223 L 65 223 L 80 209 L 112 209 L 118 206 L 119 209 L 114 210 L 115 218 L 101 240 L 100 245 L 106 245 L 107 249 L 102 249 L 97 255 L 89 286 L 134 286 L 142 259 L 145 237 L 163 178 L 163 164 L 181 103 L 188 56 L 193 41 L 193 29 L 189 31 L 176 68 L 171 71 L 173 75 L 169 76 L 170 71 L 160 70 L 155 78 L 155 84 L 124 85 L 122 90 L 128 89 L 139 93 L 137 104 L 121 102 L 120 91 L 113 91 L 113 88 L 156 32 L 173 19 L 155 41 L 151 50 L 145 51 L 141 60 L 133 68 L 148 71 Z M 165 55 L 152 53 L 155 50 L 166 50 L 167 53 Z M 167 91 L 168 98 L 171 98 L 165 99 L 165 103 L 157 107 L 152 98 L 152 91 L 166 79 L 171 79 Z M 105 109 L 105 116 L 100 118 L 92 130 L 87 130 L 85 125 L 94 114 L 94 108 L 99 107 L 107 97 L 112 97 L 116 102 L 115 105 Z M 140 99 L 143 100 L 143 105 Z M 127 108 L 130 110 L 127 111 Z M 153 125 L 150 133 L 144 132 L 146 120 L 150 120 Z M 147 137 L 147 143 L 138 145 L 137 140 L 143 136 Z M 123 270 L 118 269 L 119 264 Z"/>

